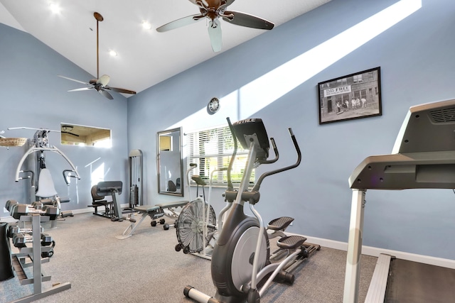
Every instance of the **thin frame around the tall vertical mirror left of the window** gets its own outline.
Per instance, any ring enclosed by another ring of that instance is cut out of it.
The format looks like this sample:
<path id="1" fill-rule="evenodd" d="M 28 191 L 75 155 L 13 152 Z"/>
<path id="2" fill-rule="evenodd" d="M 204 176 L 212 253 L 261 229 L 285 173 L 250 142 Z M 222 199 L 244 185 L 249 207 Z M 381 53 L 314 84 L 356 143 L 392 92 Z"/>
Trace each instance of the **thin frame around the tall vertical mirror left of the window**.
<path id="1" fill-rule="evenodd" d="M 166 180 L 161 181 L 161 158 L 162 158 L 162 151 L 160 149 L 160 136 L 168 135 L 168 134 L 173 134 L 173 136 L 178 135 L 178 146 L 176 144 L 171 144 L 173 148 L 178 148 L 178 156 L 180 158 L 179 160 L 179 165 L 180 165 L 180 191 L 179 192 L 168 192 L 168 191 L 163 191 L 161 190 L 161 182 L 164 182 L 166 184 Z M 178 197 L 183 197 L 183 153 L 182 153 L 182 128 L 172 128 L 172 129 L 167 129 L 166 131 L 159 131 L 156 133 L 156 171 L 157 171 L 157 176 L 158 176 L 158 193 L 159 194 L 168 194 L 171 196 L 178 196 Z"/>

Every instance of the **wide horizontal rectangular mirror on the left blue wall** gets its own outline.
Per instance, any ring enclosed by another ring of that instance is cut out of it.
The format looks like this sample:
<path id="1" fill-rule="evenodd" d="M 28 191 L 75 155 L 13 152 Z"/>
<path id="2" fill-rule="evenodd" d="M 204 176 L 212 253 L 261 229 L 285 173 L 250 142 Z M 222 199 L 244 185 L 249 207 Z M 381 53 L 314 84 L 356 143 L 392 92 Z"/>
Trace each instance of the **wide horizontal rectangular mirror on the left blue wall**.
<path id="1" fill-rule="evenodd" d="M 60 142 L 63 145 L 80 145 L 110 148 L 111 130 L 92 126 L 60 123 Z"/>

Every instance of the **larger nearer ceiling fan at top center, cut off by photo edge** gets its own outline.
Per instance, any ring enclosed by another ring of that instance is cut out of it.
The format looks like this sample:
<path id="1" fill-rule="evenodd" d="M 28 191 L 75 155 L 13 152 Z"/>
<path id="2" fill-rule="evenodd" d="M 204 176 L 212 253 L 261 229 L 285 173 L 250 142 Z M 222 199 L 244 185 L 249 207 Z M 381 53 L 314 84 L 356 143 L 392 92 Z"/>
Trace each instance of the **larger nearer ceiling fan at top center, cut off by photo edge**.
<path id="1" fill-rule="evenodd" d="M 274 23 L 269 22 L 263 18 L 252 16 L 240 11 L 226 10 L 230 4 L 235 0 L 190 0 L 193 4 L 199 7 L 200 13 L 196 15 L 186 16 L 175 21 L 166 23 L 164 26 L 156 28 L 156 31 L 164 32 L 171 31 L 181 26 L 186 26 L 191 23 L 202 20 L 207 17 L 210 21 L 208 23 L 208 36 L 214 52 L 221 50 L 221 25 L 218 18 L 222 17 L 224 21 L 235 24 L 237 26 L 246 26 L 249 28 L 259 28 L 264 30 L 271 30 Z"/>

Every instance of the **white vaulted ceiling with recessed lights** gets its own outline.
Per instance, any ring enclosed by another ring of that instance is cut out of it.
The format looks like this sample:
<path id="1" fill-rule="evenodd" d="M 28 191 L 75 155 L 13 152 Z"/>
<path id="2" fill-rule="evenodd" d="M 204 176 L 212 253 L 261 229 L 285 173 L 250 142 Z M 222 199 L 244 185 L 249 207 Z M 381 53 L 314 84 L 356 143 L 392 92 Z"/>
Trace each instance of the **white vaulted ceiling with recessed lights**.
<path id="1" fill-rule="evenodd" d="M 237 0 L 228 9 L 259 16 L 276 27 L 328 1 Z M 60 12 L 53 13 L 51 5 Z M 100 75 L 111 77 L 109 86 L 141 92 L 219 54 L 210 47 L 206 21 L 165 33 L 156 31 L 165 23 L 199 13 L 198 6 L 188 0 L 0 0 L 0 23 L 30 33 L 96 77 L 95 11 L 104 17 L 99 23 Z M 151 28 L 143 28 L 143 21 Z M 220 23 L 220 53 L 265 32 Z M 110 50 L 117 56 L 109 55 Z M 65 71 L 62 74 L 72 77 Z M 80 84 L 75 83 L 77 87 Z"/>

